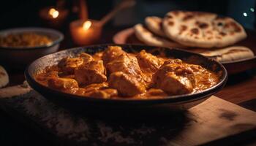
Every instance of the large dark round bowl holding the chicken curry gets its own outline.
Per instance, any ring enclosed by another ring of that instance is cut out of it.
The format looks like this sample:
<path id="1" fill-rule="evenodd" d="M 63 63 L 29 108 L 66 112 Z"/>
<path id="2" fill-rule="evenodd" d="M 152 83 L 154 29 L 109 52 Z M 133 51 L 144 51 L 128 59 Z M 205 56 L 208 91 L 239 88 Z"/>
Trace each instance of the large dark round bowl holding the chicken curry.
<path id="1" fill-rule="evenodd" d="M 29 82 L 31 88 L 34 88 L 35 91 L 41 93 L 46 99 L 53 101 L 56 104 L 61 106 L 68 107 L 75 110 L 83 110 L 86 108 L 93 108 L 94 110 L 107 108 L 118 110 L 138 110 L 138 109 L 163 109 L 168 110 L 187 110 L 191 107 L 194 107 L 200 102 L 208 99 L 214 93 L 217 93 L 220 89 L 223 88 L 225 82 L 227 81 L 227 71 L 219 64 L 217 61 L 211 60 L 199 55 L 196 53 L 187 52 L 184 50 L 170 49 L 165 47 L 152 47 L 147 45 L 118 45 L 123 47 L 127 52 L 138 52 L 140 50 L 152 51 L 155 48 L 160 48 L 165 51 L 165 54 L 169 58 L 180 58 L 183 61 L 187 61 L 190 64 L 200 64 L 201 66 L 210 69 L 212 72 L 219 74 L 219 83 L 214 85 L 211 88 L 206 89 L 198 93 L 189 93 L 178 96 L 167 96 L 165 99 L 95 99 L 91 97 L 77 96 L 69 93 L 63 93 L 60 91 L 53 90 L 51 88 L 45 87 L 44 85 L 39 84 L 34 79 L 34 74 L 44 69 L 46 66 L 52 66 L 57 64 L 57 62 L 64 58 L 65 56 L 75 56 L 81 52 L 86 53 L 97 53 L 99 51 L 105 50 L 108 45 L 94 45 L 87 47 L 77 47 L 69 50 L 62 50 L 57 53 L 50 55 L 45 55 L 42 58 L 37 59 L 32 64 L 30 64 L 25 72 L 26 80 Z"/>

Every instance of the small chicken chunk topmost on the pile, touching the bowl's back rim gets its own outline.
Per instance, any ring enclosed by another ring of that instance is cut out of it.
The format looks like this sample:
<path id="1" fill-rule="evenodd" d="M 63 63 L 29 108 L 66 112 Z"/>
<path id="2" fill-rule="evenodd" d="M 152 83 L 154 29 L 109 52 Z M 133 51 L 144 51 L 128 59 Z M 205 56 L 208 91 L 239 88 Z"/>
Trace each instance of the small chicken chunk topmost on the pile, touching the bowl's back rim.
<path id="1" fill-rule="evenodd" d="M 118 46 L 108 46 L 102 55 L 104 64 L 108 64 L 110 61 L 115 60 L 119 55 L 125 54 L 124 50 Z"/>

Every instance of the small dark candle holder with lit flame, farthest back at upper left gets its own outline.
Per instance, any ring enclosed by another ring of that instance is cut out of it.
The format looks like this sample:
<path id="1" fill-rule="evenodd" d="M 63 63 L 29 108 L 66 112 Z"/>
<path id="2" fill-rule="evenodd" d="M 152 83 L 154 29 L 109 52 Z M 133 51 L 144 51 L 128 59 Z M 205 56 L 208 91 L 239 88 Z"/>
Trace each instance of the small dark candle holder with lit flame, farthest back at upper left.
<path id="1" fill-rule="evenodd" d="M 56 9 L 54 7 L 45 7 L 39 10 L 39 17 L 44 20 L 48 26 L 59 28 L 66 20 L 69 11 L 67 9 Z"/>

